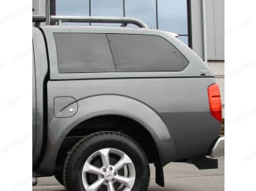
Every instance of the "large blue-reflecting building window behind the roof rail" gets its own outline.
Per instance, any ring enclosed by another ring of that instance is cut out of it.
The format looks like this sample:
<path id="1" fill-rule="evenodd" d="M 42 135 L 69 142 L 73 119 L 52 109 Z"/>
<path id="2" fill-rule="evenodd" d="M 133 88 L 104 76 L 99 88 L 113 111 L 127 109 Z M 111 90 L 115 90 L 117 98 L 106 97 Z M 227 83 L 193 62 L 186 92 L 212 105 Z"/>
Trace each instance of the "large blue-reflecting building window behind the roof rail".
<path id="1" fill-rule="evenodd" d="M 187 0 L 56 0 L 50 1 L 57 15 L 135 17 L 150 28 L 172 31 L 188 45 Z M 63 25 L 89 25 L 88 23 L 62 23 Z M 120 26 L 120 24 L 95 24 Z M 138 28 L 128 24 L 129 28 Z"/>

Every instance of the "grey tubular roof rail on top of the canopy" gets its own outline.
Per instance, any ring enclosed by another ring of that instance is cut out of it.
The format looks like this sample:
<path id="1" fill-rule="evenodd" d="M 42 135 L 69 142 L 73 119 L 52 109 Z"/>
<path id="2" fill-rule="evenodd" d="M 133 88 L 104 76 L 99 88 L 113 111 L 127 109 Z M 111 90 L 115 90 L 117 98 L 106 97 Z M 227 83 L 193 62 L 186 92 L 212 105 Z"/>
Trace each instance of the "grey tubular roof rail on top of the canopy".
<path id="1" fill-rule="evenodd" d="M 148 28 L 142 20 L 132 17 L 87 17 L 87 16 L 50 16 L 50 22 L 77 22 L 77 23 L 117 23 L 125 27 L 127 24 L 135 24 L 139 28 Z"/>

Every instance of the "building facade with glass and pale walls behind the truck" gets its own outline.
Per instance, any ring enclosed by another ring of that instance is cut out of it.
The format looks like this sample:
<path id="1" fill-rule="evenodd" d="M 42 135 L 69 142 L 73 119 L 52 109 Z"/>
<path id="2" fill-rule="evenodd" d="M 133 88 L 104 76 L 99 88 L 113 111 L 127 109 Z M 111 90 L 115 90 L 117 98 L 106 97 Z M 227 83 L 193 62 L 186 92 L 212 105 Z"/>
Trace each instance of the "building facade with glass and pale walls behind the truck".
<path id="1" fill-rule="evenodd" d="M 33 14 L 136 17 L 178 34 L 215 75 L 224 118 L 224 0 L 33 0 Z"/>

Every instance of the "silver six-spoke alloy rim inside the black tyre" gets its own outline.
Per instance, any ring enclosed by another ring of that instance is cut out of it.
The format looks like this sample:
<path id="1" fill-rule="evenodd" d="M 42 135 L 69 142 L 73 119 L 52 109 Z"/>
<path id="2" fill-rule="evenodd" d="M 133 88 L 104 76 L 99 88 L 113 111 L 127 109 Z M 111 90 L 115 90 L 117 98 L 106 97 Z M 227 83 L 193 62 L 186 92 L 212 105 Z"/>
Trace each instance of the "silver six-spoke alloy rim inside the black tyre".
<path id="1" fill-rule="evenodd" d="M 130 157 L 121 150 L 100 149 L 83 164 L 82 182 L 87 191 L 132 190 L 135 167 Z"/>

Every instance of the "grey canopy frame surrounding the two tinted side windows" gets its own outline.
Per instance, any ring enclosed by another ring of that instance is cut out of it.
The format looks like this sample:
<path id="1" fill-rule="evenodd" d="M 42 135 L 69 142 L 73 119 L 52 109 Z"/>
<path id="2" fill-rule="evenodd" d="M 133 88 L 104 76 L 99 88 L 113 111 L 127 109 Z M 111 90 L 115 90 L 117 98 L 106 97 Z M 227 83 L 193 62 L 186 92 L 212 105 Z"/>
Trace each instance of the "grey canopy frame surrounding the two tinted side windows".
<path id="1" fill-rule="evenodd" d="M 46 46 L 50 62 L 51 80 L 72 80 L 72 79 L 122 79 L 122 78 L 161 78 L 161 77 L 184 77 L 197 76 L 200 61 L 195 58 L 195 53 L 166 32 L 149 29 L 136 28 L 114 28 L 114 27 L 77 27 L 72 26 L 43 26 L 42 31 L 46 37 Z M 58 71 L 57 50 L 54 40 L 54 33 L 74 32 L 74 33 L 113 33 L 113 34 L 137 34 L 137 35 L 157 35 L 176 47 L 189 62 L 187 67 L 180 72 L 104 72 L 104 73 L 60 73 Z M 181 51 L 182 50 L 182 51 Z M 196 61 L 195 61 L 196 60 Z M 191 63 L 192 62 L 192 63 Z"/>

